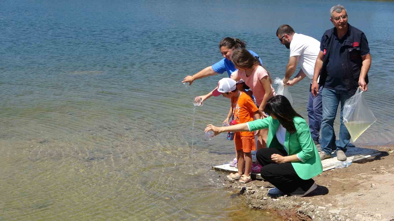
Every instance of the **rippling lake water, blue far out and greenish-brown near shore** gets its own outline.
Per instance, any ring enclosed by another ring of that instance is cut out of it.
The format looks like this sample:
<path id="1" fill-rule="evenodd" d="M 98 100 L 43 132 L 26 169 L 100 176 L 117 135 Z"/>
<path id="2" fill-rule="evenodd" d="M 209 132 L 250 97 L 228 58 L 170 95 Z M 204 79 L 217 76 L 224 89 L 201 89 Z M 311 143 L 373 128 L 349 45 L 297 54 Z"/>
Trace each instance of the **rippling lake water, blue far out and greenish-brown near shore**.
<path id="1" fill-rule="evenodd" d="M 366 99 L 375 122 L 356 145 L 392 143 L 394 2 L 342 1 L 372 55 Z M 320 40 L 331 1 L 0 2 L 0 220 L 277 220 L 246 208 L 211 166 L 234 157 L 225 134 L 208 142 L 229 100 L 197 107 L 221 76 L 180 81 L 219 61 L 238 37 L 272 77 L 289 51 L 281 24 Z M 274 86 L 276 88 L 276 86 Z M 307 117 L 309 81 L 290 88 Z M 336 120 L 338 131 L 339 119 Z M 246 218 L 245 218 L 246 217 Z"/>

